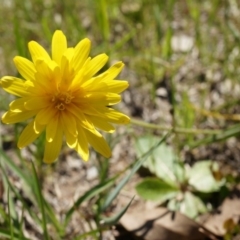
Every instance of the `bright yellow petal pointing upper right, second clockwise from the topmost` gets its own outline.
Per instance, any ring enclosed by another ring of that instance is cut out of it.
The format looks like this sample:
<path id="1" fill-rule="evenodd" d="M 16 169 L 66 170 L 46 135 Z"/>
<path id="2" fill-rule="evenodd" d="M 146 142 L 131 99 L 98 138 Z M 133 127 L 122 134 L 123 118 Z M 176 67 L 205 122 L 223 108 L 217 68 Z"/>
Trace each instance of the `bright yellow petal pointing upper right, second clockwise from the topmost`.
<path id="1" fill-rule="evenodd" d="M 108 56 L 103 53 L 99 54 L 90 60 L 86 66 L 86 71 L 84 72 L 84 79 L 90 79 L 94 74 L 96 74 L 107 62 Z"/>

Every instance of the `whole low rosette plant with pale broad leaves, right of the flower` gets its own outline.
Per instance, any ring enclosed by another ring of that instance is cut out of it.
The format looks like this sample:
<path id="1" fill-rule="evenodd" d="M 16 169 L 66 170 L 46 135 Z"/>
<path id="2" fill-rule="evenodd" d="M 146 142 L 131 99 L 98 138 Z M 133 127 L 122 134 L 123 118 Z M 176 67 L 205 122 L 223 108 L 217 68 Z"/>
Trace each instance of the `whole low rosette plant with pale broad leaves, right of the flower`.
<path id="1" fill-rule="evenodd" d="M 139 138 L 136 141 L 137 154 L 141 155 L 156 141 L 153 136 Z M 180 211 L 190 218 L 208 210 L 201 196 L 217 192 L 225 184 L 225 179 L 214 177 L 214 173 L 219 171 L 216 162 L 204 160 L 193 166 L 183 164 L 165 143 L 152 153 L 143 166 L 155 177 L 144 178 L 137 184 L 138 194 L 159 204 L 168 201 L 170 210 Z"/>

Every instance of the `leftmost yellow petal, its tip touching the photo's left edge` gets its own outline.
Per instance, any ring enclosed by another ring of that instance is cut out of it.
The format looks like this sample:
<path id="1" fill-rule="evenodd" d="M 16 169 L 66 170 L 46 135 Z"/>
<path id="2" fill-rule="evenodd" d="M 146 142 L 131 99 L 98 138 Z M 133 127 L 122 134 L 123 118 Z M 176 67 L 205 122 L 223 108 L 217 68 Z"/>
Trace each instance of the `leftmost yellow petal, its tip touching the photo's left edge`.
<path id="1" fill-rule="evenodd" d="M 15 77 L 3 77 L 0 80 L 0 87 L 6 92 L 13 94 L 18 97 L 24 97 L 30 95 L 26 89 L 25 81 Z"/>

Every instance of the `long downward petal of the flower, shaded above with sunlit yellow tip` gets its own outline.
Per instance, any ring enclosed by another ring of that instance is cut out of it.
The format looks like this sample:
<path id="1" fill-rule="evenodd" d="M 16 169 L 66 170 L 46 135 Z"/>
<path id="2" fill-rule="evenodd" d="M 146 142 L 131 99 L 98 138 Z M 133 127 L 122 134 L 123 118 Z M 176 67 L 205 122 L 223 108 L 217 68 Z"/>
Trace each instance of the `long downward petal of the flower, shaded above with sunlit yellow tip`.
<path id="1" fill-rule="evenodd" d="M 85 135 L 85 131 L 80 124 L 77 124 L 78 130 L 78 143 L 75 147 L 75 150 L 82 157 L 84 161 L 87 161 L 89 158 L 89 149 L 88 149 L 88 140 Z"/>

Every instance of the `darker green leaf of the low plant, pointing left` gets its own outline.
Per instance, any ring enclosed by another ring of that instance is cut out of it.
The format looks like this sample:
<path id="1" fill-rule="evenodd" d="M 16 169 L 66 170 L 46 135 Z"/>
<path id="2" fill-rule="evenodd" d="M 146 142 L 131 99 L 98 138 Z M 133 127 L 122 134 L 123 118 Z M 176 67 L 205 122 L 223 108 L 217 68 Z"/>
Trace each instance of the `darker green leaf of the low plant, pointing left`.
<path id="1" fill-rule="evenodd" d="M 136 186 L 137 193 L 145 200 L 163 203 L 175 197 L 179 189 L 158 178 L 145 178 Z"/>

